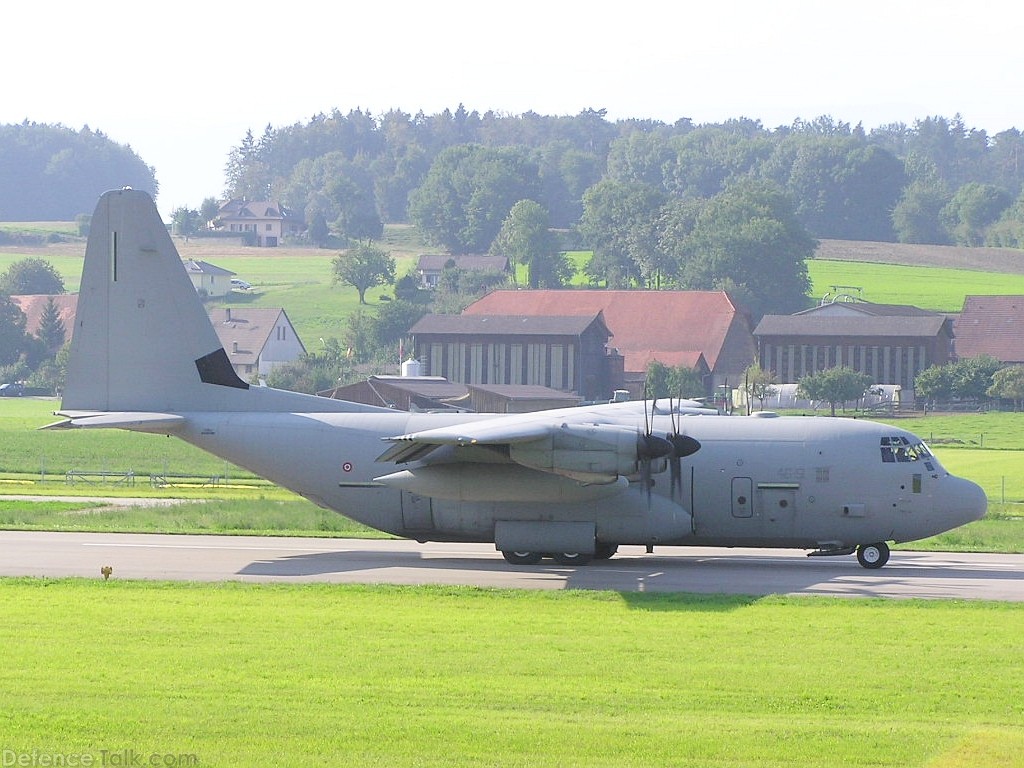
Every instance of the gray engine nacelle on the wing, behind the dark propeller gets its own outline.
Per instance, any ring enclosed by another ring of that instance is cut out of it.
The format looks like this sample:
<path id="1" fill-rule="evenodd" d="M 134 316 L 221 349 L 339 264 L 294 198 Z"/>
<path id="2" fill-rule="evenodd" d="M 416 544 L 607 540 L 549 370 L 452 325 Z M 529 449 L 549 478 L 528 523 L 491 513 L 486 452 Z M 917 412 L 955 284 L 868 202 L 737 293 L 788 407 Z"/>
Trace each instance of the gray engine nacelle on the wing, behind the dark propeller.
<path id="1" fill-rule="evenodd" d="M 563 424 L 540 440 L 512 443 L 509 457 L 516 464 L 571 477 L 580 482 L 606 483 L 633 477 L 642 461 L 651 471 L 665 471 L 664 458 L 672 443 L 628 427 L 605 424 Z"/>

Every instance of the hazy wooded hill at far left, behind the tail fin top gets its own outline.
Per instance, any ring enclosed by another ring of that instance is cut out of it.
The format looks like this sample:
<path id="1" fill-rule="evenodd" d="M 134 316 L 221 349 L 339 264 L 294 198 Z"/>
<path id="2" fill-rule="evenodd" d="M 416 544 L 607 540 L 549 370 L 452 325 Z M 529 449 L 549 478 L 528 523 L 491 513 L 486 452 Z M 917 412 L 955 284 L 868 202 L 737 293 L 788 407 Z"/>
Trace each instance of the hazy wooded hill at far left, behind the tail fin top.
<path id="1" fill-rule="evenodd" d="M 126 185 L 155 196 L 155 171 L 99 131 L 0 125 L 0 221 L 72 221 Z"/>

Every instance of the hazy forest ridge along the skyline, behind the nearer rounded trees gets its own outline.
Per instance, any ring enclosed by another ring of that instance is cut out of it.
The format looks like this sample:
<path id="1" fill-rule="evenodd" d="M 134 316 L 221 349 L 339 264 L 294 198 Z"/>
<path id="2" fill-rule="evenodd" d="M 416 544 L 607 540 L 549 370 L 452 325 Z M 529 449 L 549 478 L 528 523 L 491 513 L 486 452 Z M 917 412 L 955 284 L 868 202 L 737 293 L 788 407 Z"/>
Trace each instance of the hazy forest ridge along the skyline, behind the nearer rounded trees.
<path id="1" fill-rule="evenodd" d="M 309 222 L 352 237 L 413 221 L 453 252 L 486 250 L 512 205 L 529 199 L 572 228 L 595 184 L 643 190 L 650 205 L 710 199 L 740 180 L 771 183 L 815 238 L 1024 244 L 1016 128 L 989 136 L 959 116 L 871 131 L 821 117 L 766 129 L 755 120 L 610 122 L 355 110 L 267 126 L 231 150 L 226 191 L 280 198 Z"/>

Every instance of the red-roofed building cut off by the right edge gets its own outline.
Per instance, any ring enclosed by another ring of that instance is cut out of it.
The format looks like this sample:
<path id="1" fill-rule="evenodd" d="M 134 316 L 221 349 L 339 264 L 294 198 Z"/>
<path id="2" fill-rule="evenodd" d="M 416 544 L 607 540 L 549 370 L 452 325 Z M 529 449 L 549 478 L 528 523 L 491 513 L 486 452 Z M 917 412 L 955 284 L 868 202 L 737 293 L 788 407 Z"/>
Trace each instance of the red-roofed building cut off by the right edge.
<path id="1" fill-rule="evenodd" d="M 1024 296 L 966 296 L 953 322 L 953 351 L 959 359 L 987 354 L 1024 364 Z"/>

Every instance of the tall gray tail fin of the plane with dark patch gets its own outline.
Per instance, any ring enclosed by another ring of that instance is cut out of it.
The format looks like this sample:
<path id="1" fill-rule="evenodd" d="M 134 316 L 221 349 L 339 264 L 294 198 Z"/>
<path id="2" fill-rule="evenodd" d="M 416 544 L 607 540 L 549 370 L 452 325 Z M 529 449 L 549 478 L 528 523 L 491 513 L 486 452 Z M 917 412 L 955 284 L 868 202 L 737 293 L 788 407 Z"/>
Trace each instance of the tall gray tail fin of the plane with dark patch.
<path id="1" fill-rule="evenodd" d="M 250 387 L 221 346 L 153 199 L 105 193 L 89 228 L 65 411 L 376 411 Z"/>

